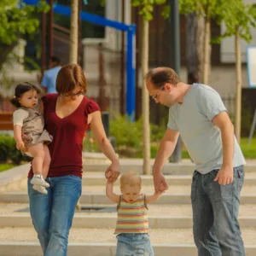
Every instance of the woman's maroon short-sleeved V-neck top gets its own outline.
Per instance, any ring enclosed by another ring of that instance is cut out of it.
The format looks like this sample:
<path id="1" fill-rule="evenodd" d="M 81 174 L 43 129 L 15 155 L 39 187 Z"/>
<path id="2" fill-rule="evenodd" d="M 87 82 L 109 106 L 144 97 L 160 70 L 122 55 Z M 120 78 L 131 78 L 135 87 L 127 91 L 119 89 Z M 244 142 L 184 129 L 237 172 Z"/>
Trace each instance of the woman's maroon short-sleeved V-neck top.
<path id="1" fill-rule="evenodd" d="M 88 128 L 89 113 L 100 110 L 96 102 L 84 96 L 79 107 L 61 119 L 55 112 L 58 94 L 42 97 L 44 103 L 45 129 L 53 136 L 49 144 L 51 162 L 48 177 L 76 175 L 82 177 L 82 151 L 84 132 Z M 32 177 L 32 168 L 28 177 Z"/>

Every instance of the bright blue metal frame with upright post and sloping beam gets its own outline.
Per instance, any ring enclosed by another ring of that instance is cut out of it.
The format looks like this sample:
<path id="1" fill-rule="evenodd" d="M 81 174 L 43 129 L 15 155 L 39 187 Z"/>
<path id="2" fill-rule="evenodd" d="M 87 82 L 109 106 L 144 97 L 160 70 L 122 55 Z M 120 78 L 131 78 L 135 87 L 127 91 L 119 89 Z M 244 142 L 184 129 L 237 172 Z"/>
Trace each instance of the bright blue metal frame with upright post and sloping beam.
<path id="1" fill-rule="evenodd" d="M 36 5 L 39 0 L 23 0 L 23 3 L 29 5 Z M 71 15 L 71 9 L 61 4 L 54 4 L 53 12 L 60 15 Z M 108 20 L 98 15 L 92 15 L 87 12 L 81 11 L 81 20 L 99 26 L 109 26 L 122 32 L 127 32 L 127 49 L 126 49 L 126 114 L 131 120 L 135 119 L 135 33 L 136 25 L 127 25 L 125 23 Z"/>

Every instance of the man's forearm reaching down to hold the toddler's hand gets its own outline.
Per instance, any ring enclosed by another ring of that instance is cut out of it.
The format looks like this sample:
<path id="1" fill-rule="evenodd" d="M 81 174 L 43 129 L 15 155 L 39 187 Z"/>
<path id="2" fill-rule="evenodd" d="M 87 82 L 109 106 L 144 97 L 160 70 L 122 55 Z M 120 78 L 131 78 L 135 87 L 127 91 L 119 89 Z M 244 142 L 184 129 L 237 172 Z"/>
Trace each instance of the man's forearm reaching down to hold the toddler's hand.
<path id="1" fill-rule="evenodd" d="M 179 131 L 166 129 L 165 135 L 160 142 L 160 147 L 157 150 L 156 158 L 153 166 L 154 176 L 154 189 L 161 191 L 168 189 L 165 177 L 162 175 L 161 170 L 166 163 L 166 160 L 173 153 L 177 144 Z M 163 186 L 163 187 L 162 187 Z"/>

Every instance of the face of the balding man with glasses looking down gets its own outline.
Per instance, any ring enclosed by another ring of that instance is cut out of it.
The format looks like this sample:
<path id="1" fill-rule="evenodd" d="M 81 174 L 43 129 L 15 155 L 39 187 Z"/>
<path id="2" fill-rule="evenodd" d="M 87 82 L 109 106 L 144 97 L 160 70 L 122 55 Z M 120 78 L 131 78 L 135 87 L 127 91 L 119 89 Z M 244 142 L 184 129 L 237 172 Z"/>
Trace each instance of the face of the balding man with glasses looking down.
<path id="1" fill-rule="evenodd" d="M 149 96 L 154 99 L 155 103 L 160 103 L 166 107 L 171 107 L 175 102 L 175 96 L 173 95 L 172 84 L 165 84 L 160 88 L 154 87 L 154 84 L 150 79 L 147 80 L 146 86 L 148 89 Z"/>

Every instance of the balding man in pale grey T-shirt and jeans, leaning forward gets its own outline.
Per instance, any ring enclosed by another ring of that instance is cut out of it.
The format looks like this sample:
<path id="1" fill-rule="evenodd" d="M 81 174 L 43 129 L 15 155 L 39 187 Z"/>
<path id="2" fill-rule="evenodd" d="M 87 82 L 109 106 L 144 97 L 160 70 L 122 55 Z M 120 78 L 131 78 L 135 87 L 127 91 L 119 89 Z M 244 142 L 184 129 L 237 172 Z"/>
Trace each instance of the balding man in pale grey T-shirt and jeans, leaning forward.
<path id="1" fill-rule="evenodd" d="M 196 166 L 191 202 L 198 255 L 246 255 L 237 221 L 245 160 L 218 92 L 205 84 L 184 84 L 168 67 L 154 68 L 146 79 L 154 101 L 170 107 L 154 160 L 155 189 L 161 183 L 168 189 L 161 170 L 180 133 Z"/>

